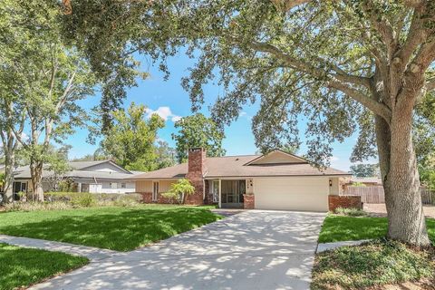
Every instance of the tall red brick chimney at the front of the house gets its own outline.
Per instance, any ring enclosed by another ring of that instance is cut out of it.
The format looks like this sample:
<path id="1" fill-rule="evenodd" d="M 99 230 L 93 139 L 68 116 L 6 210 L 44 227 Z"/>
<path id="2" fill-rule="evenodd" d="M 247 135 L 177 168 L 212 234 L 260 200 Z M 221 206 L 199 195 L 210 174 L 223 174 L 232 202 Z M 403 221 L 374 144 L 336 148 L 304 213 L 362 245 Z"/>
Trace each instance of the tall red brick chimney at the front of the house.
<path id="1" fill-rule="evenodd" d="M 204 148 L 189 149 L 188 174 L 186 179 L 189 179 L 195 187 L 195 193 L 186 198 L 186 203 L 190 205 L 204 204 L 204 174 L 206 168 L 207 150 Z"/>

